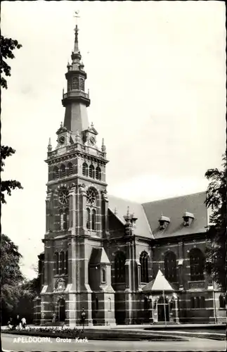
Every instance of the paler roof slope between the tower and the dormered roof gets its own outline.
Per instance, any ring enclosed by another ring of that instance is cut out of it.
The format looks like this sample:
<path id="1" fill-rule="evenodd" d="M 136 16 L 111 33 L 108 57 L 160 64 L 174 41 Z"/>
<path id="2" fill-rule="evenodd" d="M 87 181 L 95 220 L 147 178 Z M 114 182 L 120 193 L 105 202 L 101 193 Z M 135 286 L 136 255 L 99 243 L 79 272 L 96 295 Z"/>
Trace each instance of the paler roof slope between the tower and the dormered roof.
<path id="1" fill-rule="evenodd" d="M 125 225 L 124 215 L 127 215 L 127 208 L 129 207 L 129 213 L 134 213 L 135 218 L 138 218 L 138 220 L 136 220 L 135 234 L 142 237 L 153 238 L 143 206 L 140 203 L 115 196 L 108 196 L 108 199 L 109 209 L 123 225 Z"/>

